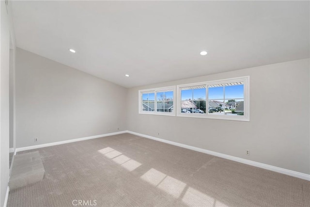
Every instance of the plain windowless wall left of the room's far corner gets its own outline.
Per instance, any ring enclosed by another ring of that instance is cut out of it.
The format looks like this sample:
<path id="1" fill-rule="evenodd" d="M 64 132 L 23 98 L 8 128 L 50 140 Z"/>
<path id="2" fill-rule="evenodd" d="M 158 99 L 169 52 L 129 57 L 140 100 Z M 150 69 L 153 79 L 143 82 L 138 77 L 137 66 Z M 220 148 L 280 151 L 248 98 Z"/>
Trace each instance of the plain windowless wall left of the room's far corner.
<path id="1" fill-rule="evenodd" d="M 125 130 L 126 92 L 124 87 L 17 48 L 16 147 Z"/>

